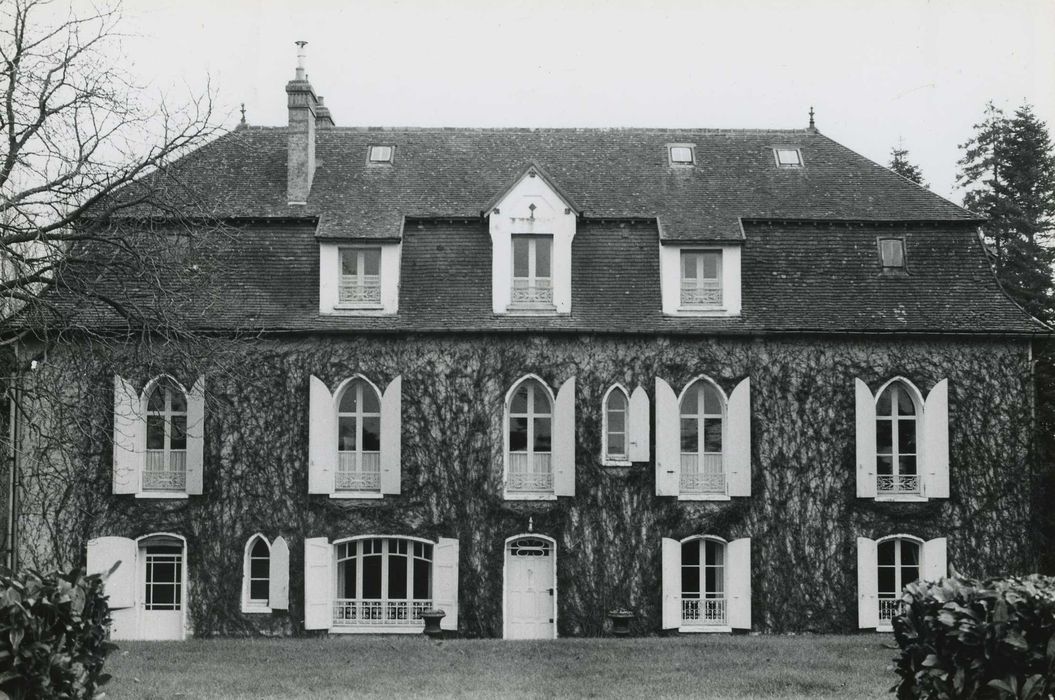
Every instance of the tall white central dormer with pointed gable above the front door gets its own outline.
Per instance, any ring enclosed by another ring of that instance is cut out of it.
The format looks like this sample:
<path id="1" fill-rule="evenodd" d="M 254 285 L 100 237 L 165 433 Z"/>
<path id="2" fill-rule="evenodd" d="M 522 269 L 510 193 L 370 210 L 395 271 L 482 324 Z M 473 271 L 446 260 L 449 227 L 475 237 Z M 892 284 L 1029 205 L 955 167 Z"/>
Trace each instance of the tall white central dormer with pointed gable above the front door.
<path id="1" fill-rule="evenodd" d="M 494 312 L 571 313 L 575 206 L 532 163 L 485 211 Z"/>

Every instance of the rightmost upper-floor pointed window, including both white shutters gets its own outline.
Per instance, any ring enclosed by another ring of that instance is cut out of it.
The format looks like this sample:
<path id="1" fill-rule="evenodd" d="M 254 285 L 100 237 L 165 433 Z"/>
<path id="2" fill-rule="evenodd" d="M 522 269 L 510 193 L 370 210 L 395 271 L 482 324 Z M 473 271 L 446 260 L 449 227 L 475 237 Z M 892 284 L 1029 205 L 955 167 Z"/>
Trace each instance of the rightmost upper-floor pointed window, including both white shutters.
<path id="1" fill-rule="evenodd" d="M 902 377 L 875 395 L 856 380 L 855 392 L 858 498 L 948 498 L 948 381 L 925 400 Z"/>

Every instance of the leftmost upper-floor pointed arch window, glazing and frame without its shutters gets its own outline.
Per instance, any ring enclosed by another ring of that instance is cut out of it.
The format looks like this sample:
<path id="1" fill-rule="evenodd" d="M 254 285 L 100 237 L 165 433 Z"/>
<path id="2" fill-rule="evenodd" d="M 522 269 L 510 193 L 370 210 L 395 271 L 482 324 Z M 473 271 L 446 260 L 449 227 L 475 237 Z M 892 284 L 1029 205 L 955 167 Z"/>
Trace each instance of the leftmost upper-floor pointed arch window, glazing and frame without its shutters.
<path id="1" fill-rule="evenodd" d="M 187 393 L 174 380 L 158 377 L 147 391 L 145 491 L 187 487 Z"/>

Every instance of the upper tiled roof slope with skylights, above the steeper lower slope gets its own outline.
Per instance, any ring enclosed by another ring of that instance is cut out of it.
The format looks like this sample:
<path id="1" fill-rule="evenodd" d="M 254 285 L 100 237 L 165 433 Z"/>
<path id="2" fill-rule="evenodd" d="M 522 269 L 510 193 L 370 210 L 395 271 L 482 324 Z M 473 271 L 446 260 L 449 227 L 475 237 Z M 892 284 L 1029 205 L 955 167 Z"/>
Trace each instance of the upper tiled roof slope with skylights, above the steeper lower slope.
<path id="1" fill-rule="evenodd" d="M 657 218 L 669 240 L 738 238 L 740 217 L 973 218 L 809 130 L 334 128 L 316 138 L 306 206 L 286 200 L 285 128 L 233 131 L 177 178 L 214 215 L 314 217 L 331 238 L 398 236 L 405 216 L 479 216 L 531 162 L 584 217 Z M 694 143 L 696 163 L 671 167 L 668 143 Z M 395 147 L 394 162 L 368 164 L 370 144 Z M 778 168 L 774 147 L 801 149 L 804 168 Z"/>

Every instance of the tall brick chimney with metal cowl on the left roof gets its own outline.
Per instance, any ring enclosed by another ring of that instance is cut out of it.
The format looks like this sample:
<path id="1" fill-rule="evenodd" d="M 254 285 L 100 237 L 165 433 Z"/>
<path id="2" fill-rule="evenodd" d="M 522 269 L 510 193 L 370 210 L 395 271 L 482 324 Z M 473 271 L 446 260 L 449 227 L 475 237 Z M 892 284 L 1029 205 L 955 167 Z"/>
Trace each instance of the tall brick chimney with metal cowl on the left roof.
<path id="1" fill-rule="evenodd" d="M 315 119 L 319 98 L 304 72 L 304 46 L 296 42 L 296 75 L 286 83 L 289 105 L 289 145 L 286 151 L 286 200 L 305 205 L 315 176 Z M 327 110 L 327 114 L 328 114 Z M 327 117 L 328 118 L 328 117 Z M 331 120 L 332 121 L 332 120 Z"/>

